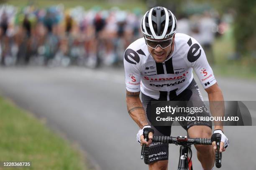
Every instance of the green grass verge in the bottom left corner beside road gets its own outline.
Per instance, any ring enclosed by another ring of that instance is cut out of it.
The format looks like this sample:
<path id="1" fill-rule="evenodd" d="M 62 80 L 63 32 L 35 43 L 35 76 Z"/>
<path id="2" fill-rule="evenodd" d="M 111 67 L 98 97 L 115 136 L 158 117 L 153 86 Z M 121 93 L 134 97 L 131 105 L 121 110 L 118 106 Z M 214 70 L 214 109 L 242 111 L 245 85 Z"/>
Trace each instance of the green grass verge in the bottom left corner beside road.
<path id="1" fill-rule="evenodd" d="M 86 170 L 77 147 L 0 97 L 0 161 L 29 161 L 33 170 Z M 1 168 L 0 168 L 1 169 Z M 8 168 L 14 170 L 17 168 Z M 23 169 L 23 168 L 20 168 Z"/>

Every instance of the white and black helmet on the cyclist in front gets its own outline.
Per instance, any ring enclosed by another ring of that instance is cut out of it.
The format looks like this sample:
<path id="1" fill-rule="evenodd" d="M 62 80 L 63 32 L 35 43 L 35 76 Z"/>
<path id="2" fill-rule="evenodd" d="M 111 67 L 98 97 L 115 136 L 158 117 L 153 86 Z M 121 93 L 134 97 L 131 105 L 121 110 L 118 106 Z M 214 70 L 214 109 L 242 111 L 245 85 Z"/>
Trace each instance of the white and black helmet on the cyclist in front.
<path id="1" fill-rule="evenodd" d="M 177 30 L 177 20 L 165 7 L 153 7 L 141 20 L 141 31 L 146 37 L 164 39 L 172 37 Z"/>

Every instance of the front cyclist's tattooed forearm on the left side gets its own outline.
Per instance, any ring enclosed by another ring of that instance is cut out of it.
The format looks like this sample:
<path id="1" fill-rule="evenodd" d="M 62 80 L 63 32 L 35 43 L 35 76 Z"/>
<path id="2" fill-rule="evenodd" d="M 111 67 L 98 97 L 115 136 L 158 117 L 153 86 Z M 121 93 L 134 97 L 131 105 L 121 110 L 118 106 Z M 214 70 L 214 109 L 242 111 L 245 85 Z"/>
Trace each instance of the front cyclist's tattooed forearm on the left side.
<path id="1" fill-rule="evenodd" d="M 129 115 L 138 126 L 142 129 L 143 126 L 148 125 L 140 99 L 140 92 L 129 92 L 126 90 L 126 103 Z"/>

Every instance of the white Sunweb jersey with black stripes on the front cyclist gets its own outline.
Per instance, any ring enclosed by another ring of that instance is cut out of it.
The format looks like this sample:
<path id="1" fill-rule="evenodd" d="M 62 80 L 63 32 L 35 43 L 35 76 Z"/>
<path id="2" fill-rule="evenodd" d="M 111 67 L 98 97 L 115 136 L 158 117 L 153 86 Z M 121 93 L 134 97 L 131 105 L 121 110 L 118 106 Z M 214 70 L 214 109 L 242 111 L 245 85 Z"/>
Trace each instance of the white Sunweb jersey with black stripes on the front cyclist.
<path id="1" fill-rule="evenodd" d="M 156 63 L 144 38 L 127 47 L 124 54 L 125 84 L 130 92 L 143 92 L 154 99 L 169 100 L 193 80 L 195 70 L 204 88 L 215 84 L 212 68 L 201 45 L 189 35 L 176 33 L 174 51 L 163 63 Z"/>

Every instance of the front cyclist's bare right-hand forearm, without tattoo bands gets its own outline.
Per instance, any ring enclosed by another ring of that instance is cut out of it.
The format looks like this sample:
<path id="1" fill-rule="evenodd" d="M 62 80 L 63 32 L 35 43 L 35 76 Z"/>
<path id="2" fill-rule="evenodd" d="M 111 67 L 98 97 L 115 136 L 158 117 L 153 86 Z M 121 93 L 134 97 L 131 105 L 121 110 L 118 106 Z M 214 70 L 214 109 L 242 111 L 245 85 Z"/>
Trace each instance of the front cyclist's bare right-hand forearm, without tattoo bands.
<path id="1" fill-rule="evenodd" d="M 224 98 L 221 90 L 215 90 L 208 93 L 210 102 L 210 111 L 213 117 L 223 117 L 225 112 Z M 223 130 L 223 122 L 215 121 L 215 128 Z"/>

